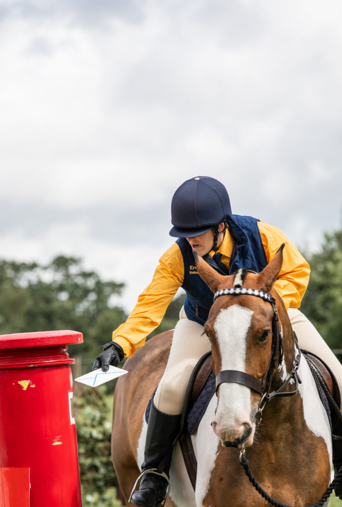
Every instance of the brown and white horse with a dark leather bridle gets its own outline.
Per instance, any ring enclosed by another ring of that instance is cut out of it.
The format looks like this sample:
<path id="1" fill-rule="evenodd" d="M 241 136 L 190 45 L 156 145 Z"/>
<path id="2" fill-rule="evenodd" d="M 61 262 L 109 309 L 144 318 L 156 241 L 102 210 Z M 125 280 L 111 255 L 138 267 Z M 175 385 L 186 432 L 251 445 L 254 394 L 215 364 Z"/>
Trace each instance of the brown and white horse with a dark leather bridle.
<path id="1" fill-rule="evenodd" d="M 165 507 L 261 507 L 267 501 L 252 487 L 239 462 L 246 452 L 255 479 L 277 501 L 312 505 L 329 485 L 332 443 L 329 420 L 309 365 L 302 355 L 296 385 L 290 373 L 298 348 L 285 306 L 273 288 L 281 270 L 282 248 L 260 273 L 239 270 L 222 276 L 197 257 L 197 270 L 214 294 L 240 286 L 270 294 L 275 300 L 282 337 L 272 389 L 286 383 L 284 392 L 265 404 L 258 417 L 261 395 L 232 381 L 220 383 L 191 437 L 198 468 L 195 491 L 177 441 L 170 468 L 170 495 Z M 249 294 L 222 292 L 215 299 L 204 332 L 212 346 L 212 368 L 236 370 L 262 381 L 271 363 L 274 310 L 269 301 Z M 112 461 L 126 503 L 140 475 L 147 430 L 144 413 L 167 364 L 172 331 L 150 339 L 126 361 L 113 400 Z M 270 359 L 271 358 L 271 359 Z M 260 411 L 259 411 L 260 412 Z M 260 422 L 259 422 L 260 421 Z"/>

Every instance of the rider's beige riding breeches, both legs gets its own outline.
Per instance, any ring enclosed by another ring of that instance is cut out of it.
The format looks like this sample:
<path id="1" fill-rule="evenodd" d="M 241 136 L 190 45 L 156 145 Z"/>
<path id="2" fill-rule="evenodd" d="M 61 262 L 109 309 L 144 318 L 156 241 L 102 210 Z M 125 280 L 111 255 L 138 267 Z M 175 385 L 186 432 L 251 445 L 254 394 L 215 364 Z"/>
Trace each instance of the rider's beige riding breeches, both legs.
<path id="1" fill-rule="evenodd" d="M 335 374 L 342 392 L 342 365 L 331 352 L 310 320 L 299 310 L 288 311 L 292 328 L 300 348 L 320 356 Z M 203 325 L 188 320 L 184 309 L 174 330 L 169 360 L 154 397 L 156 407 L 166 414 L 180 414 L 183 408 L 189 378 L 197 361 L 211 349 Z"/>

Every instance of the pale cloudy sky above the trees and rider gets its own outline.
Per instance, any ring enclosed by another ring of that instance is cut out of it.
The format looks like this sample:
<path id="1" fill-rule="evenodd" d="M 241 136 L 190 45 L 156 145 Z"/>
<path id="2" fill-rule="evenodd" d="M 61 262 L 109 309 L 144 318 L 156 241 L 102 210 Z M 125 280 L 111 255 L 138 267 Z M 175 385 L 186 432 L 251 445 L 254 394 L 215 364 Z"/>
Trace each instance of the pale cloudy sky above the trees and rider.
<path id="1" fill-rule="evenodd" d="M 0 0 L 0 256 L 81 256 L 130 310 L 183 180 L 318 247 L 342 210 L 340 0 Z"/>

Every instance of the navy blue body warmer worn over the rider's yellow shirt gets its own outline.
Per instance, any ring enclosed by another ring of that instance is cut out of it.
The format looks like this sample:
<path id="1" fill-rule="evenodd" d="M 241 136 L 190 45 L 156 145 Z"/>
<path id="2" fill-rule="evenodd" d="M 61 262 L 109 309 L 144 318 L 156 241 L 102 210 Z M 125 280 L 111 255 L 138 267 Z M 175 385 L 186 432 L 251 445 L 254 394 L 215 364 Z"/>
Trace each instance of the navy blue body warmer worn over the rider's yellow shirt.
<path id="1" fill-rule="evenodd" d="M 234 238 L 234 247 L 229 274 L 239 268 L 252 269 L 259 273 L 267 266 L 265 250 L 261 241 L 258 220 L 252 216 L 233 215 L 229 229 Z M 209 316 L 214 295 L 205 281 L 197 273 L 192 247 L 186 238 L 177 239 L 184 261 L 184 281 L 186 292 L 184 310 L 189 320 L 204 325 Z M 197 310 L 197 311 L 196 311 Z"/>

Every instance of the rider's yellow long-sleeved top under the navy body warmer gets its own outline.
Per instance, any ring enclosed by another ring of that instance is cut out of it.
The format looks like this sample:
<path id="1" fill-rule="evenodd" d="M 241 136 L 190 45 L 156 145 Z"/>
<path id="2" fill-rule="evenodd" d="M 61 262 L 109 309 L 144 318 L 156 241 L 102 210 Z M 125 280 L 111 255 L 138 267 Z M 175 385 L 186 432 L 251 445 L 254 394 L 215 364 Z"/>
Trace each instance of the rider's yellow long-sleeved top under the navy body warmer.
<path id="1" fill-rule="evenodd" d="M 286 309 L 299 308 L 300 301 L 309 283 L 310 267 L 293 244 L 276 227 L 258 222 L 260 236 L 267 262 L 269 263 L 282 243 L 283 266 L 274 284 L 282 297 Z M 223 241 L 217 250 L 222 254 L 221 262 L 229 268 L 234 239 L 225 231 Z M 209 255 L 214 255 L 212 250 Z M 113 341 L 119 343 L 129 357 L 145 343 L 146 336 L 154 331 L 162 321 L 167 307 L 174 298 L 184 278 L 184 264 L 181 251 L 174 243 L 160 258 L 154 277 L 140 294 L 138 302 L 126 322 L 113 332 Z"/>

